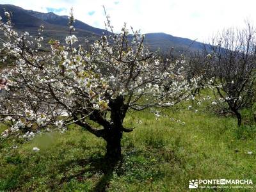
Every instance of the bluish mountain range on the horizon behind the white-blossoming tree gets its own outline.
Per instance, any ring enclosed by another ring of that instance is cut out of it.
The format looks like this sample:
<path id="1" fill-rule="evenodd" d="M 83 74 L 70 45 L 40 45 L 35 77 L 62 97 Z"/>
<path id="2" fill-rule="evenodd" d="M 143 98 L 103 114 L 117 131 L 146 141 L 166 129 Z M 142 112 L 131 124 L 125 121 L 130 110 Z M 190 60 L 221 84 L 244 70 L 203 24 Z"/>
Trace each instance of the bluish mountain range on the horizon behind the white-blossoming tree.
<path id="1" fill-rule="evenodd" d="M 14 27 L 19 31 L 29 31 L 32 35 L 35 35 L 38 27 L 43 24 L 46 40 L 55 38 L 64 41 L 65 36 L 68 35 L 68 16 L 59 16 L 52 12 L 40 13 L 33 10 L 24 10 L 12 4 L 0 4 L 0 16 L 3 17 L 3 19 L 4 10 L 12 12 L 12 20 L 13 24 L 15 24 Z M 79 39 L 84 39 L 88 36 L 92 42 L 99 38 L 103 32 L 106 33 L 105 29 L 94 28 L 80 20 L 76 20 L 74 27 L 76 28 L 74 34 Z M 168 52 L 171 47 L 174 47 L 176 54 L 184 51 L 198 51 L 201 50 L 204 45 L 188 38 L 180 38 L 165 33 L 147 33 L 145 34 L 145 43 L 148 44 L 153 51 L 160 48 L 162 52 Z"/>

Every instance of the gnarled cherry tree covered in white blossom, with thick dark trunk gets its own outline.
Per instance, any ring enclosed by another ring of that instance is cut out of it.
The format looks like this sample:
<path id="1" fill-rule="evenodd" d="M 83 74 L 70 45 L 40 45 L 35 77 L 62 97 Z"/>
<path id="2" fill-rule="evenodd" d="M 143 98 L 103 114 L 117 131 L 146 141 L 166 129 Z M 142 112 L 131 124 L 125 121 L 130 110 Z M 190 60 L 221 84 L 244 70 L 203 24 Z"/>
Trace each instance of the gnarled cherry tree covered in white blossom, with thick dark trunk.
<path id="1" fill-rule="evenodd" d="M 38 36 L 17 33 L 10 13 L 5 15 L 1 51 L 15 57 L 15 65 L 0 74 L 8 82 L 0 98 L 0 121 L 8 125 L 4 138 L 29 140 L 39 132 L 76 124 L 106 140 L 106 156 L 118 158 L 123 132 L 132 131 L 123 124 L 128 110 L 171 107 L 196 86 L 196 79 L 184 79 L 183 67 L 148 51 L 140 31 L 131 28 L 131 38 L 124 25 L 114 33 L 109 17 L 109 33 L 83 46 L 73 35 L 71 12 L 66 44 L 51 40 L 51 52 L 45 53 L 39 51 L 43 26 Z"/>

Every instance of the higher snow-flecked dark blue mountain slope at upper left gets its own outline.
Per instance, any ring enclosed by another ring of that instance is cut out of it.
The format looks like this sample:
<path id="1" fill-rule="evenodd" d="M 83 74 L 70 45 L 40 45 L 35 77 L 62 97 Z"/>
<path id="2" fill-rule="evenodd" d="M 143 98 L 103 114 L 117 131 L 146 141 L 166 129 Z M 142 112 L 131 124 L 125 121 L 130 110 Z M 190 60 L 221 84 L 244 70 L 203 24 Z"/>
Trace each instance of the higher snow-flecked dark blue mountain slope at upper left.
<path id="1" fill-rule="evenodd" d="M 64 42 L 65 36 L 69 34 L 67 16 L 58 16 L 54 13 L 33 12 L 11 4 L 0 4 L 0 16 L 3 20 L 5 20 L 4 10 L 12 12 L 12 22 L 17 31 L 28 31 L 31 35 L 36 35 L 37 29 L 43 24 L 45 29 L 45 42 L 51 38 Z M 75 23 L 78 23 L 79 28 L 76 28 L 74 35 L 76 35 L 80 40 L 83 40 L 88 36 L 93 42 L 99 38 L 103 31 L 105 31 L 104 29 L 97 29 L 87 24 L 83 24 L 83 22 L 79 20 L 76 20 Z M 88 26 L 88 28 L 86 28 L 86 26 Z"/>

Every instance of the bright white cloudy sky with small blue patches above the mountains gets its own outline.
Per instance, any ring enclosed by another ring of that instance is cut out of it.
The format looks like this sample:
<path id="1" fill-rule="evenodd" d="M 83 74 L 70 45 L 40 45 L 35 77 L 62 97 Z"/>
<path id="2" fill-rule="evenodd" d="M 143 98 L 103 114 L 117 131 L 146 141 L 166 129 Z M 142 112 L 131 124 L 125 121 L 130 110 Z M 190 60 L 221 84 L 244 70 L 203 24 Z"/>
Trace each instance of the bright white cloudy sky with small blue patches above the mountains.
<path id="1" fill-rule="evenodd" d="M 96 28 L 104 28 L 104 9 L 115 31 L 124 22 L 141 33 L 163 32 L 207 42 L 224 28 L 244 27 L 250 20 L 256 26 L 255 0 L 0 0 L 37 12 L 69 15 Z"/>

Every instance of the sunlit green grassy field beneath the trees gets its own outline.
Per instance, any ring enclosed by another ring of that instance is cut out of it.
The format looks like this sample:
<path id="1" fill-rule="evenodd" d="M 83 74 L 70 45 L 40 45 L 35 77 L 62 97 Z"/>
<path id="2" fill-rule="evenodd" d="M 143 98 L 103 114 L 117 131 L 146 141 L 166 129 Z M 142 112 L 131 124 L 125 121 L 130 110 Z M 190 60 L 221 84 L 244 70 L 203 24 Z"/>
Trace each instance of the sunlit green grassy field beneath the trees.
<path id="1" fill-rule="evenodd" d="M 116 164 L 104 160 L 104 141 L 79 127 L 22 145 L 1 140 L 0 191 L 188 191 L 191 179 L 256 182 L 256 129 L 238 129 L 232 116 L 205 108 L 166 114 L 130 112 L 125 124 L 136 129 L 124 134 Z"/>

